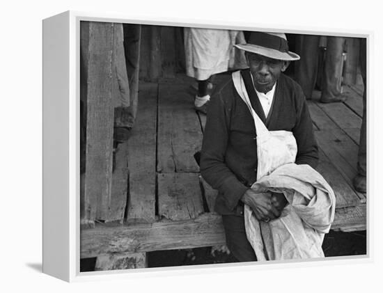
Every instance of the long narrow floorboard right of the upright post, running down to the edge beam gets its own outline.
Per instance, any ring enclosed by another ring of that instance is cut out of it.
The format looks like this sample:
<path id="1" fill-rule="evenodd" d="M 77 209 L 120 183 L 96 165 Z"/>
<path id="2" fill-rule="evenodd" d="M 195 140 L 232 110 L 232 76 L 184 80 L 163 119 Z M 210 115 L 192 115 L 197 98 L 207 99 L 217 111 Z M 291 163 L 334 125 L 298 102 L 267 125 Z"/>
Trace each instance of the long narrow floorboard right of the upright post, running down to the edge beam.
<path id="1" fill-rule="evenodd" d="M 127 221 L 155 221 L 157 84 L 142 84 L 136 123 L 128 144 Z"/>

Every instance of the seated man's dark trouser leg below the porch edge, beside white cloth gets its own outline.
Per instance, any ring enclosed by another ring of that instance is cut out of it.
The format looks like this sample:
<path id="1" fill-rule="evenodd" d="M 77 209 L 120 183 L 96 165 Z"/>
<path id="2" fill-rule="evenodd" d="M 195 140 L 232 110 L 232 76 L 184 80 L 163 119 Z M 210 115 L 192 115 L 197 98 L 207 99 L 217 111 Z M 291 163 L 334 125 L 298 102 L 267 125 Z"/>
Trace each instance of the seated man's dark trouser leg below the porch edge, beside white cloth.
<path id="1" fill-rule="evenodd" d="M 226 245 L 238 262 L 257 260 L 253 247 L 247 240 L 243 216 L 222 216 L 226 234 Z"/>

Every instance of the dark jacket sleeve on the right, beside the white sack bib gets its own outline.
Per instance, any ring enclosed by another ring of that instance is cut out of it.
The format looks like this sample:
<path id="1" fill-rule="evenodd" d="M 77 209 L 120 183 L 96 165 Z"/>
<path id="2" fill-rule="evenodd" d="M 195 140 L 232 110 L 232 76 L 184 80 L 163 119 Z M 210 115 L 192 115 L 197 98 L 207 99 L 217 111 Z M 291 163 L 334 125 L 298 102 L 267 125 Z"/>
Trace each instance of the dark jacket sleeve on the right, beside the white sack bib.
<path id="1" fill-rule="evenodd" d="M 318 143 L 313 132 L 313 121 L 306 103 L 306 97 L 302 88 L 297 90 L 297 123 L 292 133 L 297 140 L 298 152 L 295 163 L 298 165 L 308 164 L 313 168 L 318 166 Z"/>

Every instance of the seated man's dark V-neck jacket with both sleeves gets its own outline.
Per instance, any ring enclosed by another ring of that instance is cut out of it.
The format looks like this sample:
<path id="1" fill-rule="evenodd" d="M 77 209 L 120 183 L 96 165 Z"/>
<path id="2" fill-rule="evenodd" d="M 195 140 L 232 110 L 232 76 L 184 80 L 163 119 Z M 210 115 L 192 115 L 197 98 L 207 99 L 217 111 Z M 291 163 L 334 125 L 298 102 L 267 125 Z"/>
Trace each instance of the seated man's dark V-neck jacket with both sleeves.
<path id="1" fill-rule="evenodd" d="M 318 164 L 318 145 L 302 88 L 281 74 L 267 120 L 253 88 L 250 71 L 242 70 L 242 78 L 253 109 L 269 130 L 286 130 L 297 141 L 296 164 Z M 240 201 L 256 181 L 256 129 L 253 117 L 230 78 L 210 99 L 203 134 L 201 175 L 219 191 L 215 210 L 219 214 L 239 214 Z"/>

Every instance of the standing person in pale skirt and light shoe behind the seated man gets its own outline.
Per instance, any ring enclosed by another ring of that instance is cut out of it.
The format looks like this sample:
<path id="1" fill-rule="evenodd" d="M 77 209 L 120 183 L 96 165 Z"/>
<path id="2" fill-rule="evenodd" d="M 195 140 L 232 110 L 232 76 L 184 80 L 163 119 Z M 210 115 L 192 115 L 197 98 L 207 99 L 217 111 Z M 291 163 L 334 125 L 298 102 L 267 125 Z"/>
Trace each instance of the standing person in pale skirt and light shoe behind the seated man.
<path id="1" fill-rule="evenodd" d="M 212 91 L 213 74 L 228 68 L 245 68 L 243 52 L 233 47 L 244 43 L 242 31 L 223 29 L 184 29 L 186 74 L 198 81 L 198 92 L 194 100 L 197 111 L 206 113 Z"/>

